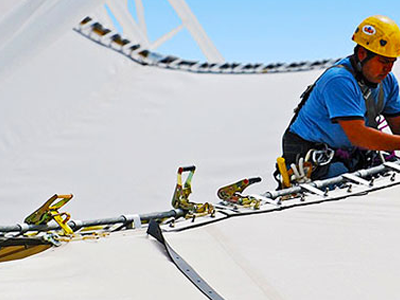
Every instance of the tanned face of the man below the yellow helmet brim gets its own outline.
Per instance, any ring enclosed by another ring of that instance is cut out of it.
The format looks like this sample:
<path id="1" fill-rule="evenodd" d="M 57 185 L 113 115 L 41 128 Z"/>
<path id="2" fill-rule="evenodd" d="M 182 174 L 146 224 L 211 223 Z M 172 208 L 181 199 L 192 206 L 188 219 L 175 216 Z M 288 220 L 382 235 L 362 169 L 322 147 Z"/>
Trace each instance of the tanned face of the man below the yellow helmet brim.
<path id="1" fill-rule="evenodd" d="M 396 58 L 375 55 L 364 64 L 362 72 L 368 81 L 381 83 L 392 70 L 395 61 Z"/>

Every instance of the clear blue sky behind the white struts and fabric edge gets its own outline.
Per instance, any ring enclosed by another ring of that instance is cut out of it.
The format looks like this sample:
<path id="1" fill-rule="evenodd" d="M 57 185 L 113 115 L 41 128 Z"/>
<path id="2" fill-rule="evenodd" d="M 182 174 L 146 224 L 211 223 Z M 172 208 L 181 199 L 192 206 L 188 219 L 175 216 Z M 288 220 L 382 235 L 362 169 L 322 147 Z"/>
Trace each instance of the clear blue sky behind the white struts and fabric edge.
<path id="1" fill-rule="evenodd" d="M 135 5 L 131 11 L 135 16 Z M 350 54 L 355 27 L 383 14 L 400 24 L 398 0 L 186 0 L 208 36 L 229 62 L 291 62 Z M 143 0 L 150 40 L 181 22 L 167 0 Z M 183 30 L 156 52 L 204 61 Z"/>

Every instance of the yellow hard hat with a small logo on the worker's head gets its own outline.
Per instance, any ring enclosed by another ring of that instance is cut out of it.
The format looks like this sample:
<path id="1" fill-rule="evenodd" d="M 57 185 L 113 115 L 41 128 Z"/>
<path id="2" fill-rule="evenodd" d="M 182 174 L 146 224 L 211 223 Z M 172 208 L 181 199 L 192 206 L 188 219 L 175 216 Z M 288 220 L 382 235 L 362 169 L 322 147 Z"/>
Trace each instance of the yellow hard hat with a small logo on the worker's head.
<path id="1" fill-rule="evenodd" d="M 366 18 L 356 28 L 352 40 L 373 53 L 386 56 L 400 56 L 400 29 L 385 16 Z"/>

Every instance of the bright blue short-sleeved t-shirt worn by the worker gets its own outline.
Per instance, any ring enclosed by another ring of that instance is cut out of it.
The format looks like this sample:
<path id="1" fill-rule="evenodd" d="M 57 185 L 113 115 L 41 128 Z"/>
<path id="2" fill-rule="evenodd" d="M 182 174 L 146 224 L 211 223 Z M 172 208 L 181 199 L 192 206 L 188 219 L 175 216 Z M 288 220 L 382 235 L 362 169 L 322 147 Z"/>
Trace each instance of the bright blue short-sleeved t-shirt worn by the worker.
<path id="1" fill-rule="evenodd" d="M 352 68 L 350 59 L 337 64 Z M 384 116 L 400 114 L 399 85 L 392 73 L 371 89 L 378 100 L 380 85 L 384 91 Z M 326 143 L 332 148 L 352 148 L 338 120 L 366 118 L 365 100 L 354 76 L 346 68 L 331 68 L 321 76 L 301 108 L 290 131 L 311 142 Z"/>

